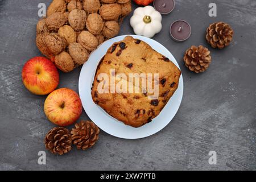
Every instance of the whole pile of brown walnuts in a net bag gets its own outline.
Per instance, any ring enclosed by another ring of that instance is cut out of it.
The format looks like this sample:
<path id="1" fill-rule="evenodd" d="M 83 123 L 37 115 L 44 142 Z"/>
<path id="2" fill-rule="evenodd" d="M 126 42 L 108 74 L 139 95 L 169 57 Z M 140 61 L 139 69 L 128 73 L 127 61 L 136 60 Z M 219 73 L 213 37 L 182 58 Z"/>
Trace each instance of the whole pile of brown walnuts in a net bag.
<path id="1" fill-rule="evenodd" d="M 130 0 L 53 0 L 36 26 L 36 46 L 57 68 L 70 72 L 119 33 Z"/>

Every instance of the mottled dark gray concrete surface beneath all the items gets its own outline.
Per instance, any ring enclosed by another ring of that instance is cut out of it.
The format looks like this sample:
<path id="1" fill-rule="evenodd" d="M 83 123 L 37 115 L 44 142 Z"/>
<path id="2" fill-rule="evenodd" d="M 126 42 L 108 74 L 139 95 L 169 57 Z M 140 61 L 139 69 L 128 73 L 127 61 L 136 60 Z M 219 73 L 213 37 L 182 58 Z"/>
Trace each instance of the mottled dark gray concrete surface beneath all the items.
<path id="1" fill-rule="evenodd" d="M 184 78 L 184 96 L 172 122 L 158 134 L 137 140 L 112 137 L 104 131 L 93 148 L 63 156 L 47 152 L 47 164 L 38 164 L 45 150 L 44 136 L 52 127 L 43 111 L 46 96 L 28 92 L 21 80 L 24 63 L 40 56 L 35 45 L 38 3 L 50 0 L 0 0 L 0 169 L 2 170 L 251 170 L 256 169 L 256 1 L 176 0 L 175 10 L 163 17 L 163 30 L 154 37 L 176 57 Z M 217 17 L 208 16 L 210 2 Z M 133 8 L 136 6 L 133 4 Z M 133 34 L 127 17 L 120 35 Z M 176 19 L 192 26 L 184 43 L 173 42 L 168 27 Z M 216 21 L 234 29 L 233 43 L 223 50 L 205 42 L 205 30 Z M 183 64 L 185 50 L 203 45 L 212 64 L 196 75 Z M 78 92 L 80 69 L 60 72 L 61 87 Z M 83 111 L 80 119 L 88 119 Z M 208 152 L 217 152 L 217 165 L 208 164 Z"/>

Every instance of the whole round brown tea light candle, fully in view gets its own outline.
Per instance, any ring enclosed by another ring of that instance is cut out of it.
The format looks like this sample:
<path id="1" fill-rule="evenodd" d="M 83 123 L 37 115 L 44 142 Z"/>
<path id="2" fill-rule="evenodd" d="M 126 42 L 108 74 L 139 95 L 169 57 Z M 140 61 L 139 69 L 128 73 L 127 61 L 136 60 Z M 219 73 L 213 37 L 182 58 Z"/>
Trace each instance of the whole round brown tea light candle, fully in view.
<path id="1" fill-rule="evenodd" d="M 170 27 L 171 38 L 177 42 L 187 40 L 191 35 L 191 26 L 185 20 L 176 20 Z"/>

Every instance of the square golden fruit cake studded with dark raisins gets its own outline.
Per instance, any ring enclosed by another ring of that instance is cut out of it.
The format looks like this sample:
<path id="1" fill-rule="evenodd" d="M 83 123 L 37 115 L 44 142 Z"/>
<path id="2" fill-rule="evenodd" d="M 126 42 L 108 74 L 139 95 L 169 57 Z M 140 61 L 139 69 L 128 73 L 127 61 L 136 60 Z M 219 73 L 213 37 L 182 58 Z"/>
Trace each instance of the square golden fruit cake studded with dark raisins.
<path id="1" fill-rule="evenodd" d="M 152 78 L 157 74 L 159 78 L 152 79 L 149 93 L 148 88 L 142 90 L 145 88 L 142 80 L 136 82 L 135 79 L 129 79 L 130 73 L 151 73 Z M 179 68 L 167 57 L 142 40 L 126 36 L 121 42 L 114 43 L 98 64 L 92 98 L 112 117 L 126 125 L 140 127 L 151 122 L 167 104 L 178 87 L 180 75 Z M 134 86 L 133 92 L 129 92 L 129 84 Z M 156 85 L 159 88 L 158 96 L 150 98 L 155 95 L 152 90 Z"/>

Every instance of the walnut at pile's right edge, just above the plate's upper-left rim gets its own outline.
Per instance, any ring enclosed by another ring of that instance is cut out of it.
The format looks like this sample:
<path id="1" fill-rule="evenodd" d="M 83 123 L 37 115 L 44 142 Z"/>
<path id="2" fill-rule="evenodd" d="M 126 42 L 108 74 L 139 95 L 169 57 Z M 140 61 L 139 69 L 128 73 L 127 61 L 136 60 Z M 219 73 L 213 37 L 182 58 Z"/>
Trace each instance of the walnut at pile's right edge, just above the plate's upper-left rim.
<path id="1" fill-rule="evenodd" d="M 102 35 L 106 38 L 113 38 L 118 35 L 120 30 L 119 24 L 115 21 L 105 22 L 105 26 L 102 30 Z"/>

